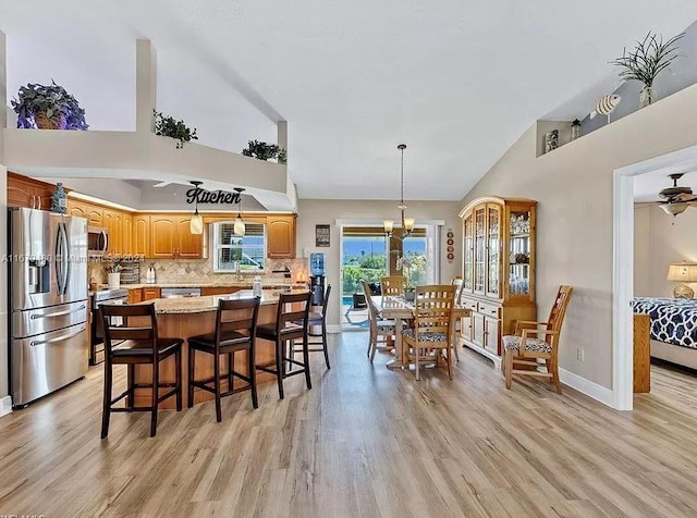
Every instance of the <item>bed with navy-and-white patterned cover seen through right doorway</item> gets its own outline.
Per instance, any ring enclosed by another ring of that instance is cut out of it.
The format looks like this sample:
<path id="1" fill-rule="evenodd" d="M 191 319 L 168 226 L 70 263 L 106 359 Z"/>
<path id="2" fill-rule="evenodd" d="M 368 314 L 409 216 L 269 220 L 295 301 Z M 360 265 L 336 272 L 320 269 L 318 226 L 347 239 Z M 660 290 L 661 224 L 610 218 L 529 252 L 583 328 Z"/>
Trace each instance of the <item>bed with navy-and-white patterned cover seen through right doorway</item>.
<path id="1" fill-rule="evenodd" d="M 651 357 L 697 369 L 696 299 L 636 297 L 632 306 L 651 319 Z"/>

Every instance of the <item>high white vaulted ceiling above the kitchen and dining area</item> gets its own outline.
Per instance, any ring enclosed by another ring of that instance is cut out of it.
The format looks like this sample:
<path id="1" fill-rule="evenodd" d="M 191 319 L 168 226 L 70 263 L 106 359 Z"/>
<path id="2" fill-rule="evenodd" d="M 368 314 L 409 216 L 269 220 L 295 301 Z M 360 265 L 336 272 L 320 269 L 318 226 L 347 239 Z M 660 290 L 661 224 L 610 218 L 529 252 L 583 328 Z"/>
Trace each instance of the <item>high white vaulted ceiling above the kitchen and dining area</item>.
<path id="1" fill-rule="evenodd" d="M 695 18 L 694 0 L 0 0 L 9 97 L 54 78 L 94 130 L 133 130 L 149 38 L 158 108 L 200 143 L 240 151 L 289 121 L 301 198 L 399 198 L 404 141 L 405 198 L 460 200 L 625 45 Z"/>

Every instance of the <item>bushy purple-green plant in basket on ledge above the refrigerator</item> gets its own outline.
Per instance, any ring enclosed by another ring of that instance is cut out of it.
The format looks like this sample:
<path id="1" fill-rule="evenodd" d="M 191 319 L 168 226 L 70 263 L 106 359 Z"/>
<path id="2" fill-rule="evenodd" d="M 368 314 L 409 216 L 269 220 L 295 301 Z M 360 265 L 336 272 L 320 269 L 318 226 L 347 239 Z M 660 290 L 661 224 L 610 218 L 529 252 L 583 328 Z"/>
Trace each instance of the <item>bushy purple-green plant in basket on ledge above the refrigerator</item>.
<path id="1" fill-rule="evenodd" d="M 40 130 L 87 130 L 85 110 L 65 88 L 51 79 L 49 86 L 28 83 L 12 99 L 17 127 Z"/>

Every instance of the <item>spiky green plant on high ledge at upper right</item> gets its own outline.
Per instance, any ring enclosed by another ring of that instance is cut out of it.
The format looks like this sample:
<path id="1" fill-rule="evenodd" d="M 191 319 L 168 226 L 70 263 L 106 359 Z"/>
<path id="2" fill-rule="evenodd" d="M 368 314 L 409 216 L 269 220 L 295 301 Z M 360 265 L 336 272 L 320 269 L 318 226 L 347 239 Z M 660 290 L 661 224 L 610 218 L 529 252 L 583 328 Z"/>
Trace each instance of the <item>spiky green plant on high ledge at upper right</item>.
<path id="1" fill-rule="evenodd" d="M 639 108 L 645 108 L 656 100 L 653 81 L 677 58 L 676 44 L 683 36 L 685 33 L 663 41 L 662 36 L 651 34 L 649 30 L 641 41 L 637 41 L 633 52 L 627 53 L 625 48 L 622 58 L 610 62 L 621 69 L 620 77 L 623 79 L 636 79 L 644 84 L 639 94 Z"/>

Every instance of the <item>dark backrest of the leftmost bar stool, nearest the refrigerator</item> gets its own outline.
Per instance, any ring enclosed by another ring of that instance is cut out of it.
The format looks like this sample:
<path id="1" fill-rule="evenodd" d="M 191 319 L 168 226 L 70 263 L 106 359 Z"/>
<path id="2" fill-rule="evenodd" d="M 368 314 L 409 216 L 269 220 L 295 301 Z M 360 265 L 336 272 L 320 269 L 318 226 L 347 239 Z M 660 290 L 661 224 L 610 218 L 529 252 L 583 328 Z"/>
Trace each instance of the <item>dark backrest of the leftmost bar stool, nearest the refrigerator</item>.
<path id="1" fill-rule="evenodd" d="M 111 356 L 114 341 L 137 340 L 152 343 L 157 354 L 155 303 L 136 305 L 100 304 L 105 326 L 106 355 Z"/>

